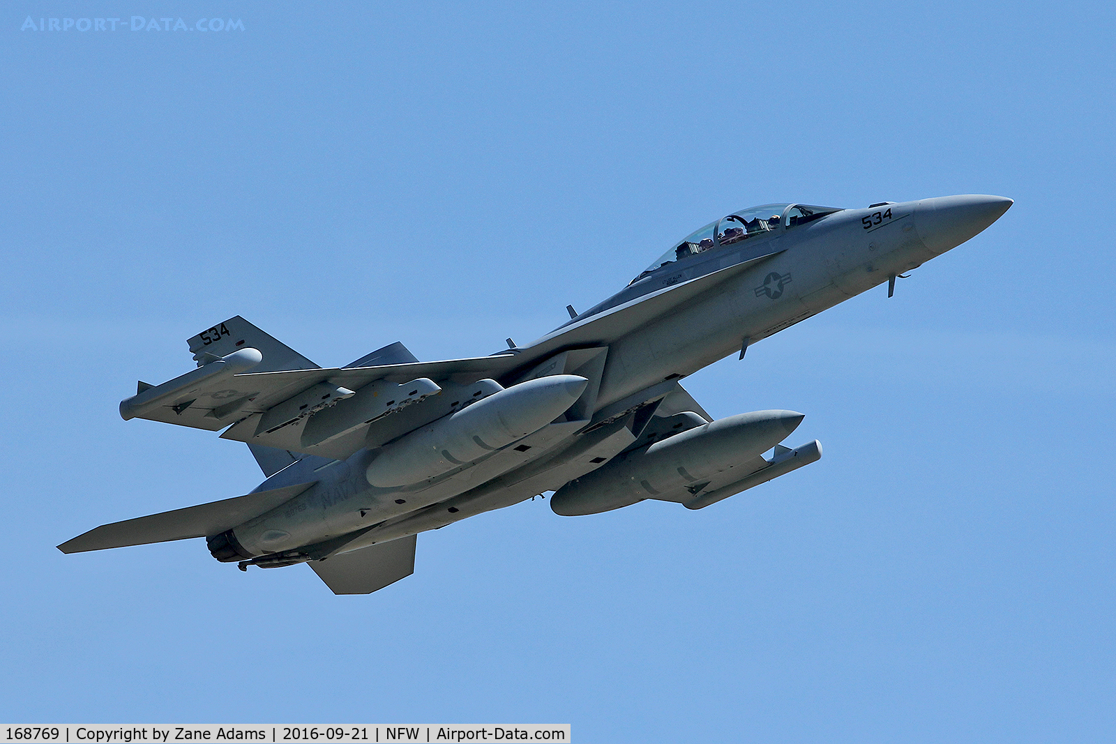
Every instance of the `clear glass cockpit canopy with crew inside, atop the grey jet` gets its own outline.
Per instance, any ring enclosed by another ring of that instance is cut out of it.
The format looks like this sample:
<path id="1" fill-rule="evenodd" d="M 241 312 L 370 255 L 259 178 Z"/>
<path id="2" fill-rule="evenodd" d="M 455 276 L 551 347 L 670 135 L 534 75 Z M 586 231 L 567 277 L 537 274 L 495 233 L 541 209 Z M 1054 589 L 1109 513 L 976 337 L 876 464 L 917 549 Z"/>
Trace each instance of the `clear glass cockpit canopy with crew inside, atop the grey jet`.
<path id="1" fill-rule="evenodd" d="M 790 230 L 839 211 L 839 207 L 810 206 L 808 204 L 763 204 L 739 210 L 686 235 L 633 279 L 632 283 L 634 284 L 668 263 L 683 261 L 692 255 L 723 245 L 769 235 L 780 229 Z"/>

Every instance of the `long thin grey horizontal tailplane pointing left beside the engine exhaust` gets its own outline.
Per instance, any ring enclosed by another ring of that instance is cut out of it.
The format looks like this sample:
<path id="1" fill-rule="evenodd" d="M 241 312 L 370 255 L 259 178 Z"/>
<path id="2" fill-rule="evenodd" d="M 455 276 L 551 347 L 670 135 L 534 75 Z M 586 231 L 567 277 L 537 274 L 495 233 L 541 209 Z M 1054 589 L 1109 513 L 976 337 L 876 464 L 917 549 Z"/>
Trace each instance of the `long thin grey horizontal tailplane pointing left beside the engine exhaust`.
<path id="1" fill-rule="evenodd" d="M 299 483 L 273 491 L 257 491 L 247 496 L 102 524 L 67 540 L 58 545 L 58 550 L 64 553 L 80 553 L 219 534 L 290 501 L 311 485 L 314 483 Z"/>

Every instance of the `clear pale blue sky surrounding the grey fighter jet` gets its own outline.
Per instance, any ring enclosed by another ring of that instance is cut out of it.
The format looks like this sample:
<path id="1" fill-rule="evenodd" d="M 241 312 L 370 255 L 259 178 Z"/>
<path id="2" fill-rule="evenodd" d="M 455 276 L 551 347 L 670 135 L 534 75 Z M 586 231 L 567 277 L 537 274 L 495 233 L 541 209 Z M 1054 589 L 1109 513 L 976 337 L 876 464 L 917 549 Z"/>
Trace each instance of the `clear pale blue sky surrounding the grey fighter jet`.
<path id="1" fill-rule="evenodd" d="M 0 718 L 1116 738 L 1114 31 L 1110 3 L 8 3 Z M 686 381 L 825 446 L 715 506 L 525 502 L 367 597 L 200 540 L 55 549 L 261 480 L 117 414 L 214 321 L 321 365 L 484 355 L 731 210 L 956 193 L 1016 204 Z"/>

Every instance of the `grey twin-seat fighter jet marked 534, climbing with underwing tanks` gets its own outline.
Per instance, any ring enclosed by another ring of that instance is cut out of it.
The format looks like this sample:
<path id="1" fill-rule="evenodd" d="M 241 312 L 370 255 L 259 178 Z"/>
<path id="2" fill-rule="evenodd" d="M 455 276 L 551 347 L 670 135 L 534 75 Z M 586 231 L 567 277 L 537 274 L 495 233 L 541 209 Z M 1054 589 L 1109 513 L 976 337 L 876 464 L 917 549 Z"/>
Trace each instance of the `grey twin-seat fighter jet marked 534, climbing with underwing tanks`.
<path id="1" fill-rule="evenodd" d="M 888 282 L 998 220 L 1002 196 L 867 209 L 764 204 L 711 222 L 538 340 L 419 361 L 400 342 L 324 368 L 241 317 L 189 339 L 198 368 L 121 416 L 246 442 L 247 495 L 104 524 L 65 553 L 205 538 L 219 561 L 309 563 L 335 593 L 414 571 L 416 535 L 555 492 L 562 515 L 646 499 L 703 509 L 817 461 L 802 414 L 713 421 L 679 380 Z M 770 456 L 764 456 L 770 451 Z"/>

